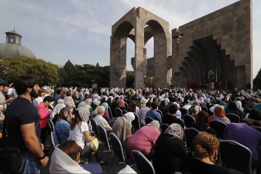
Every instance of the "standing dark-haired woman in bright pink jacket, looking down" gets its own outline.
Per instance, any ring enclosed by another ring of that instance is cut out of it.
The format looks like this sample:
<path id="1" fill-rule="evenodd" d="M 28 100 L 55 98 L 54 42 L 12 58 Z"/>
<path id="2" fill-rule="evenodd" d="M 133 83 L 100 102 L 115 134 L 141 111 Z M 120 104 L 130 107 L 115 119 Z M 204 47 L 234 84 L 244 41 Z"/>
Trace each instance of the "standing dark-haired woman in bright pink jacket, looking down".
<path id="1" fill-rule="evenodd" d="M 51 104 L 53 101 L 51 96 L 46 96 L 38 106 L 37 109 L 40 113 L 40 118 L 39 118 L 39 124 L 41 128 L 41 143 L 44 144 L 47 138 L 47 122 L 48 122 L 48 117 L 52 113 L 52 110 L 48 109 L 48 106 Z"/>

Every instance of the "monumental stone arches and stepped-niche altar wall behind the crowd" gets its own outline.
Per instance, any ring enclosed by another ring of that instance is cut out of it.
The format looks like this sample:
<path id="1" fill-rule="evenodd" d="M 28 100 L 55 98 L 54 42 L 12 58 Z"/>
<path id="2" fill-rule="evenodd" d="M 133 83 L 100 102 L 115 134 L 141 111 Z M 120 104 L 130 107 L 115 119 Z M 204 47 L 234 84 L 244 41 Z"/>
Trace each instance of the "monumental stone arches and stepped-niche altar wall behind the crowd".
<path id="1" fill-rule="evenodd" d="M 126 42 L 130 38 L 135 42 L 131 60 L 135 87 L 144 86 L 144 75 L 153 76 L 157 87 L 168 87 L 171 82 L 188 87 L 189 81 L 206 80 L 209 70 L 218 81 L 231 80 L 232 87 L 245 88 L 248 83 L 252 87 L 252 0 L 238 1 L 175 28 L 172 36 L 168 30 L 167 21 L 141 7 L 117 21 L 110 39 L 110 85 L 126 86 Z M 154 57 L 147 59 L 144 46 L 151 37 Z"/>

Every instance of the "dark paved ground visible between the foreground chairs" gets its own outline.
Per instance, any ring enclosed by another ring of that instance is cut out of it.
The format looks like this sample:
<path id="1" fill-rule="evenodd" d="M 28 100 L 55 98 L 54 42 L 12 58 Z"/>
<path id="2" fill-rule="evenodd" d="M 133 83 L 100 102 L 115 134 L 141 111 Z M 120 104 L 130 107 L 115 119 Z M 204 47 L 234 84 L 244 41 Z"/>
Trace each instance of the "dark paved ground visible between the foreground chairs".
<path id="1" fill-rule="evenodd" d="M 54 150 L 54 147 L 52 146 L 51 135 L 48 135 L 47 140 L 45 142 L 44 149 L 49 150 L 49 155 L 48 155 L 49 161 L 48 161 L 48 165 L 46 167 L 42 168 L 42 172 L 41 173 L 49 173 L 49 166 L 50 166 L 50 163 L 51 163 L 51 156 L 52 156 L 52 152 Z M 111 166 L 109 166 L 111 154 L 112 154 L 112 152 L 109 152 L 108 148 L 104 149 L 104 152 L 102 154 L 102 160 L 108 162 L 108 165 L 102 168 L 103 173 L 112 173 L 113 164 L 115 162 L 115 158 L 112 160 Z M 90 162 L 96 162 L 96 158 L 95 158 L 95 154 L 94 153 L 91 155 L 91 161 Z M 124 167 L 125 166 L 124 166 L 123 162 L 119 162 L 118 164 L 115 165 L 115 170 L 114 170 L 113 173 L 118 173 Z M 107 172 L 108 168 L 110 168 L 109 172 Z M 137 169 L 135 171 L 137 172 Z"/>

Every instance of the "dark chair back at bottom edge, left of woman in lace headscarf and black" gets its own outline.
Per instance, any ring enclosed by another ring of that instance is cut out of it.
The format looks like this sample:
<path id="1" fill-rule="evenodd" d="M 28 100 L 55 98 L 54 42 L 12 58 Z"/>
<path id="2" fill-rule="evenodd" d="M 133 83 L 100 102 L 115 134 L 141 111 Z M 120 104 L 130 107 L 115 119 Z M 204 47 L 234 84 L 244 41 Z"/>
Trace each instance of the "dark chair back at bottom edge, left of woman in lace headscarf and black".
<path id="1" fill-rule="evenodd" d="M 155 173 L 151 162 L 140 151 L 133 150 L 131 154 L 139 173 Z"/>

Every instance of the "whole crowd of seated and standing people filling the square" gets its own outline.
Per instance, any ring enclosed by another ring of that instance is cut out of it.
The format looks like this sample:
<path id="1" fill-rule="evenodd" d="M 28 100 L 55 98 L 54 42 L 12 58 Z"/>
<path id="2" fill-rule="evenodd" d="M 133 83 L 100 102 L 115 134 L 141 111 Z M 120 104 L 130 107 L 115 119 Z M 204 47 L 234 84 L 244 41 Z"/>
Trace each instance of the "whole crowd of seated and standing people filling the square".
<path id="1" fill-rule="evenodd" d="M 40 88 L 37 79 L 23 75 L 10 86 L 0 84 L 0 91 L 1 132 L 5 135 L 2 141 L 23 154 L 21 165 L 12 172 L 40 173 L 40 168 L 47 165 L 44 144 L 51 129 L 50 120 L 61 143 L 52 153 L 50 173 L 72 173 L 70 165 L 75 172 L 88 173 L 78 163 L 80 159 L 88 163 L 93 152 L 100 167 L 106 166 L 91 119 L 103 126 L 108 135 L 114 133 L 118 137 L 126 158 L 132 159 L 131 152 L 138 150 L 152 160 L 156 173 L 228 173 L 226 168 L 215 165 L 219 141 L 209 121 L 219 120 L 227 125 L 222 139 L 248 147 L 253 154 L 252 166 L 260 168 L 261 133 L 251 128 L 261 124 L 260 90 Z M 125 114 L 118 115 L 116 108 Z M 231 123 L 227 113 L 238 115 L 239 122 Z M 185 126 L 184 114 L 194 117 L 195 123 Z M 133 124 L 136 116 L 141 128 Z M 146 117 L 152 119 L 148 124 Z M 162 131 L 161 124 L 169 126 Z M 187 153 L 187 127 L 200 131 L 193 140 L 192 156 Z"/>

